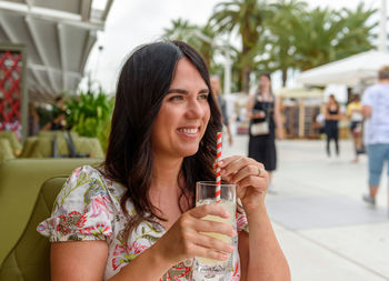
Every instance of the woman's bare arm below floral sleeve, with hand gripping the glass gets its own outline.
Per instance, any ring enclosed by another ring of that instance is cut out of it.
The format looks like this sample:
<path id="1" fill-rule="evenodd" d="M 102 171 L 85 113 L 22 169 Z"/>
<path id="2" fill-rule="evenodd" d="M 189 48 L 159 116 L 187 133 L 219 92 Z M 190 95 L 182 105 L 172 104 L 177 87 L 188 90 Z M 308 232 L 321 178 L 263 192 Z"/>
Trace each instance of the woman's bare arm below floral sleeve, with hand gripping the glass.
<path id="1" fill-rule="evenodd" d="M 207 214 L 228 218 L 218 204 L 205 204 L 183 213 L 152 247 L 124 265 L 110 281 L 156 281 L 173 264 L 203 257 L 225 261 L 233 251 L 231 245 L 200 232 L 218 232 L 233 237 L 231 225 L 206 221 Z M 51 280 L 102 280 L 108 258 L 106 241 L 54 242 L 51 245 Z M 147 270 L 144 270 L 147 269 Z"/>

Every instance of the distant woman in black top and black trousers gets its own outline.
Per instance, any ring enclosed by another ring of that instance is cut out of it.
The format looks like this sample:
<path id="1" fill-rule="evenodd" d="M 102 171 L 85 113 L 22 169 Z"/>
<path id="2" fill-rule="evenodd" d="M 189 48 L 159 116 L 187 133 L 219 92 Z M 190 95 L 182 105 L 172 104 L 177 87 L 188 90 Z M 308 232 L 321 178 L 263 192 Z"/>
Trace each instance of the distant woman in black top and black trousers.
<path id="1" fill-rule="evenodd" d="M 330 94 L 326 104 L 326 124 L 325 132 L 327 136 L 327 155 L 331 155 L 330 141 L 335 141 L 335 149 L 337 155 L 339 155 L 339 129 L 338 123 L 341 118 L 340 107 L 333 94 Z"/>

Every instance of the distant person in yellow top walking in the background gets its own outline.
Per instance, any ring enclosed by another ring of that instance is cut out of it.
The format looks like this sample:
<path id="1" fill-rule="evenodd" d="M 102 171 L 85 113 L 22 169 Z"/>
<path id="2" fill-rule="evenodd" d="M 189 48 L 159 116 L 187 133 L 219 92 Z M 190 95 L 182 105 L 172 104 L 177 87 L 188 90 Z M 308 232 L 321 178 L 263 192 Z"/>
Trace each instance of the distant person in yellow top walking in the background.
<path id="1" fill-rule="evenodd" d="M 347 106 L 346 116 L 350 119 L 350 131 L 352 136 L 353 147 L 356 158 L 352 162 L 358 162 L 359 153 L 362 152 L 362 104 L 360 103 L 360 98 L 358 94 L 355 94 L 351 99 L 351 102 Z"/>

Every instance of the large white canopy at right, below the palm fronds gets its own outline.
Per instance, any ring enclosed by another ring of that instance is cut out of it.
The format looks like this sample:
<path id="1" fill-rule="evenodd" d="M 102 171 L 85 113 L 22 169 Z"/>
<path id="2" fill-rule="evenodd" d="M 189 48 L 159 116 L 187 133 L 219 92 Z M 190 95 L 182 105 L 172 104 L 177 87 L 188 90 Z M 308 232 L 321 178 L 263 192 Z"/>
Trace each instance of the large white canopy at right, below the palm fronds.
<path id="1" fill-rule="evenodd" d="M 297 81 L 311 86 L 355 87 L 360 82 L 375 80 L 382 66 L 389 66 L 389 53 L 371 50 L 303 71 Z"/>

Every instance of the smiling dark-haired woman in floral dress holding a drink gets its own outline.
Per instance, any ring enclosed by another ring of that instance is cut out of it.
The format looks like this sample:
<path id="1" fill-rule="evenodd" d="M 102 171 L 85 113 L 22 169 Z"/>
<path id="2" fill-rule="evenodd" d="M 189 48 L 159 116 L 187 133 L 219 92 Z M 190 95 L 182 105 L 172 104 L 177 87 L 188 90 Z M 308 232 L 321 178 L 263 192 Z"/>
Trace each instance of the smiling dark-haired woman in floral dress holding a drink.
<path id="1" fill-rule="evenodd" d="M 141 47 L 122 67 L 104 163 L 77 169 L 38 230 L 50 237 L 59 280 L 189 280 L 192 259 L 226 260 L 233 280 L 290 280 L 269 221 L 268 174 L 252 159 L 219 162 L 238 184 L 237 249 L 203 235 L 235 235 L 218 204 L 194 208 L 194 185 L 215 180 L 221 117 L 199 53 L 183 42 Z M 250 232 L 248 231 L 250 225 Z"/>

